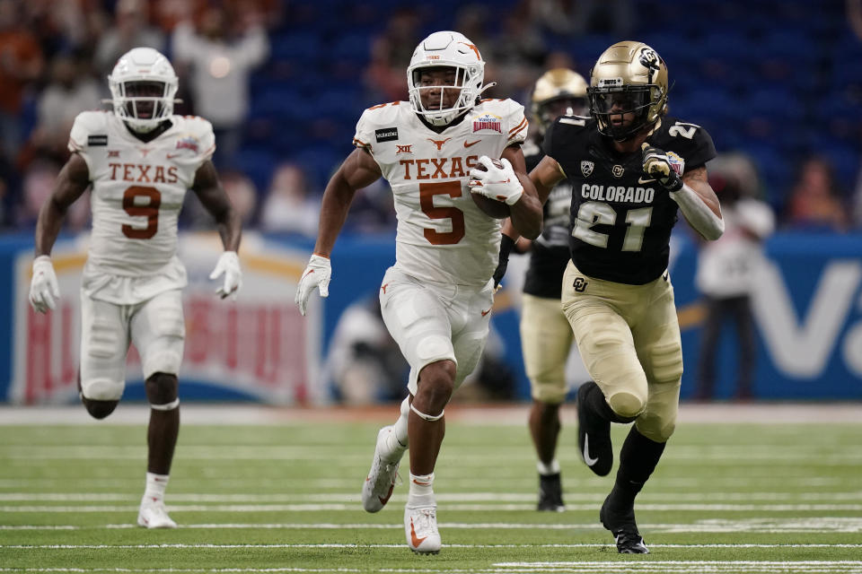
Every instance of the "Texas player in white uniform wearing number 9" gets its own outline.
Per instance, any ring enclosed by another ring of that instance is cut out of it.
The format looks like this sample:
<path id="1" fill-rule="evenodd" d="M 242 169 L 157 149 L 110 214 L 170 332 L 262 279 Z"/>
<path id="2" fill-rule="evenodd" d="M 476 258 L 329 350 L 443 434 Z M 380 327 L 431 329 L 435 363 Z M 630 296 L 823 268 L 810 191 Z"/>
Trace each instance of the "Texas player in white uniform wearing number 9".
<path id="1" fill-rule="evenodd" d="M 180 429 L 177 373 L 185 326 L 180 290 L 186 270 L 177 257 L 177 218 L 190 188 L 216 220 L 224 253 L 210 279 L 224 275 L 218 292 L 242 284 L 236 255 L 240 218 L 210 158 L 212 126 L 200 117 L 173 115 L 177 76 L 162 54 L 134 48 L 108 77 L 113 111 L 75 118 L 69 161 L 36 225 L 30 300 L 48 312 L 59 297 L 50 252 L 68 207 L 92 186 L 92 235 L 81 288 L 79 391 L 96 419 L 119 403 L 128 345 L 135 344 L 150 403 L 147 472 L 137 523 L 175 528 L 164 506 Z"/>

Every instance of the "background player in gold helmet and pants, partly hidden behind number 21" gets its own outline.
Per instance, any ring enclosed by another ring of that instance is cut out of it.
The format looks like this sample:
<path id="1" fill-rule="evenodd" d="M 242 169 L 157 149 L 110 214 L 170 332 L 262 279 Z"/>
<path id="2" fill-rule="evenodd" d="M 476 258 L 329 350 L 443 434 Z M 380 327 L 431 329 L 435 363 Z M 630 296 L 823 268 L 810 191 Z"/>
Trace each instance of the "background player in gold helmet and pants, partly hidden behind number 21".
<path id="1" fill-rule="evenodd" d="M 581 74 L 555 68 L 542 74 L 532 90 L 532 118 L 539 126 L 535 140 L 523 146 L 527 170 L 539 164 L 544 153 L 541 140 L 548 127 L 560 116 L 582 116 L 587 109 L 586 82 Z M 562 511 L 562 484 L 557 461 L 559 405 L 566 400 L 566 361 L 575 339 L 572 327 L 559 306 L 563 272 L 568 264 L 568 210 L 572 186 L 560 181 L 544 204 L 541 235 L 532 242 L 530 266 L 523 284 L 521 309 L 521 347 L 523 362 L 530 378 L 532 409 L 530 434 L 539 460 L 539 503 L 537 509 Z M 509 253 L 522 249 L 524 240 L 515 241 L 511 222 L 503 226 L 500 258 L 494 283 L 506 274 Z M 523 246 L 527 247 L 527 246 Z"/>

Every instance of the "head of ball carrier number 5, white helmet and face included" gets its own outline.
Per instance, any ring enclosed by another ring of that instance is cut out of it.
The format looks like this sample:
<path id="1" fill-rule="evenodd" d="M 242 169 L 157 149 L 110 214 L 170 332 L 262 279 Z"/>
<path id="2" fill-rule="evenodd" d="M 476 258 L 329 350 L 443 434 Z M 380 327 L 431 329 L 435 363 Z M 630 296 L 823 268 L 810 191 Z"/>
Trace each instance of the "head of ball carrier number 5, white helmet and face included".
<path id="1" fill-rule="evenodd" d="M 432 126 L 448 126 L 476 105 L 484 77 L 485 62 L 469 39 L 458 32 L 435 32 L 410 59 L 410 106 Z"/>

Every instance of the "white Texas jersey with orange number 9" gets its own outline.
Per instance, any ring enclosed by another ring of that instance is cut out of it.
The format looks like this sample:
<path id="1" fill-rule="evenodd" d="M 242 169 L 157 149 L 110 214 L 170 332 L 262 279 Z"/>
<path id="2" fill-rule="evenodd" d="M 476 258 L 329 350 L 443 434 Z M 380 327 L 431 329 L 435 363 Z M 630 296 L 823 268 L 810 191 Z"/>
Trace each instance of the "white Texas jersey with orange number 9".
<path id="1" fill-rule="evenodd" d="M 212 157 L 216 140 L 201 117 L 172 116 L 171 122 L 170 129 L 145 143 L 112 112 L 85 111 L 75 117 L 69 151 L 84 158 L 92 183 L 84 291 L 103 290 L 100 299 L 133 303 L 153 296 L 154 290 L 185 286 L 185 269 L 176 257 L 177 220 L 186 191 L 198 168 Z M 128 300 L 128 293 L 104 289 L 111 276 L 138 283 L 159 277 L 160 285 L 137 290 L 140 296 Z"/>

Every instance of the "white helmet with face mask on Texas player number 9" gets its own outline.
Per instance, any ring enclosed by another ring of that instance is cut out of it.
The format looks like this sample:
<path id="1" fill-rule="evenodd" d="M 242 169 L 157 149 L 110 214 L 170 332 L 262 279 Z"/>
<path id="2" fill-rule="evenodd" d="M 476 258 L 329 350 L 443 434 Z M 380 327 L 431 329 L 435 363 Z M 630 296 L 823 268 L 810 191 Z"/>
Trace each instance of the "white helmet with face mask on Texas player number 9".
<path id="1" fill-rule="evenodd" d="M 134 48 L 108 76 L 114 113 L 136 132 L 153 131 L 173 114 L 177 74 L 153 48 Z"/>

